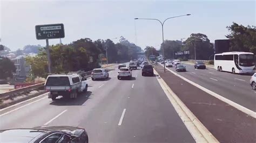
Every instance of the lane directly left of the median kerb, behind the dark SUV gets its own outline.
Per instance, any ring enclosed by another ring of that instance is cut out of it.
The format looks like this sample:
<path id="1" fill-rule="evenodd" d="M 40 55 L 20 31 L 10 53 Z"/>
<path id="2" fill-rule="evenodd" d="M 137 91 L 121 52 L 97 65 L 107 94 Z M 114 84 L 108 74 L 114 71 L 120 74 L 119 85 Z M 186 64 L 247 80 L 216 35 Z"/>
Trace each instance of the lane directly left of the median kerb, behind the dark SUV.
<path id="1" fill-rule="evenodd" d="M 114 141 L 195 142 L 156 77 L 142 76 L 141 71 L 136 74 Z"/>

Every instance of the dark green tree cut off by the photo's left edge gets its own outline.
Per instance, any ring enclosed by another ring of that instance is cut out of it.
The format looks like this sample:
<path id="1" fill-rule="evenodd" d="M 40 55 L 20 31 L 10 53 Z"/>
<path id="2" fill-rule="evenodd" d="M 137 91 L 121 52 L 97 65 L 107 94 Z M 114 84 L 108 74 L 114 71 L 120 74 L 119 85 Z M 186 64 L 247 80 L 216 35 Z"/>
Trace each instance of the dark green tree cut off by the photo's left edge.
<path id="1" fill-rule="evenodd" d="M 12 78 L 16 68 L 10 59 L 0 56 L 0 79 Z"/>

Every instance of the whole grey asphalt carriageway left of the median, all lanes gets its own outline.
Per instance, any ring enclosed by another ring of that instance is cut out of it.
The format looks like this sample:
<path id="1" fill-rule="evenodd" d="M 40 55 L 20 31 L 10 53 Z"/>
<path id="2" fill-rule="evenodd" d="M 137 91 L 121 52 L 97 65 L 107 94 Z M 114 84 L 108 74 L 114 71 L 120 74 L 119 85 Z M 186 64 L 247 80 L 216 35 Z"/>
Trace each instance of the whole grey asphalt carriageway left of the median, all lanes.
<path id="1" fill-rule="evenodd" d="M 87 80 L 77 99 L 45 94 L 0 110 L 0 128 L 68 125 L 86 128 L 90 142 L 194 142 L 156 77 L 138 69 L 132 80 L 118 80 L 111 68 L 108 80 Z"/>

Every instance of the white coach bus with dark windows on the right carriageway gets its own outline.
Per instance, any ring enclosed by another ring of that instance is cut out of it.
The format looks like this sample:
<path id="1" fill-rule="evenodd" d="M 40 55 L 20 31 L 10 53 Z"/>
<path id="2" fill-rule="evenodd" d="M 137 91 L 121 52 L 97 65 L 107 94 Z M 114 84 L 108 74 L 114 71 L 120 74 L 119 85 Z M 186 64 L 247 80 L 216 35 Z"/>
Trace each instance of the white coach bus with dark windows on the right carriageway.
<path id="1" fill-rule="evenodd" d="M 225 52 L 215 54 L 214 68 L 233 74 L 254 73 L 254 54 L 248 52 Z"/>

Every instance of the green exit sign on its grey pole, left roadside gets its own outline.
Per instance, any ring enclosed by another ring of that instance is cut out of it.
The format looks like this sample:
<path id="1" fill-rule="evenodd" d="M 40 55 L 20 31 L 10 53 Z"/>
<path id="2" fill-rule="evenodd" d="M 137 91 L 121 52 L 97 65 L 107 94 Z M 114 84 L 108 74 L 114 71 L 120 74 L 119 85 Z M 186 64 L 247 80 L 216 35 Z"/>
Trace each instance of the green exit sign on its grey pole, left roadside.
<path id="1" fill-rule="evenodd" d="M 36 39 L 37 40 L 46 40 L 48 70 L 49 70 L 49 74 L 51 74 L 49 39 L 64 38 L 65 37 L 64 25 L 63 24 L 36 25 L 35 28 L 36 28 Z"/>

